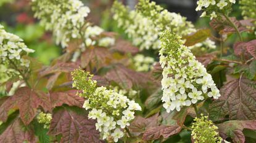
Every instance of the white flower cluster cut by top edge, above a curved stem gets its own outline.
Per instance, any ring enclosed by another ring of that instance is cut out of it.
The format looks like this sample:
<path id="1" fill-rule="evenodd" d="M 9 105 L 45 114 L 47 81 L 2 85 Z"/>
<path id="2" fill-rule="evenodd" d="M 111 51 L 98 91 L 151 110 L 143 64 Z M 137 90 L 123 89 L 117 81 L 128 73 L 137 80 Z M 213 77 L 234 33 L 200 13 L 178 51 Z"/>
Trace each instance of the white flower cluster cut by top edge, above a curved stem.
<path id="1" fill-rule="evenodd" d="M 231 10 L 231 6 L 236 0 L 199 0 L 197 1 L 196 11 L 203 10 L 200 17 L 209 16 L 210 19 L 216 18 L 218 14 L 225 14 Z"/>

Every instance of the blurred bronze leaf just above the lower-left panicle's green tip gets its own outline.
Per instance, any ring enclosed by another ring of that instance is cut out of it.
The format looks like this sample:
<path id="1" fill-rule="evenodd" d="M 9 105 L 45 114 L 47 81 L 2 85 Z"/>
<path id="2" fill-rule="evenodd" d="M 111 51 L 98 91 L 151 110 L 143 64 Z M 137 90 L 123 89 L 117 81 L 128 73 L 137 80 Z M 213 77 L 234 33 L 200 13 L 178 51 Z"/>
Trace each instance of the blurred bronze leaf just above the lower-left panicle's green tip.
<path id="1" fill-rule="evenodd" d="M 104 48 L 104 47 L 87 48 L 85 52 L 81 54 L 81 67 L 86 68 L 88 64 L 91 63 L 90 66 L 101 68 L 102 66 L 107 64 L 107 62 L 111 60 L 111 58 L 112 58 L 112 55 L 107 48 Z"/>

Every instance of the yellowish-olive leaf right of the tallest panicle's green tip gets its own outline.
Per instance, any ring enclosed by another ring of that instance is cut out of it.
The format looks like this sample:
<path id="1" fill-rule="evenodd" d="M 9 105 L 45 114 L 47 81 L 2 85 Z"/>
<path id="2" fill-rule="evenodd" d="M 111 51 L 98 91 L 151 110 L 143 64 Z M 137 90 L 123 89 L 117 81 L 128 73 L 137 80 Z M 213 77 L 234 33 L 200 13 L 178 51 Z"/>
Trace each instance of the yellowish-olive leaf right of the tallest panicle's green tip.
<path id="1" fill-rule="evenodd" d="M 196 33 L 192 33 L 189 36 L 183 37 L 184 39 L 186 39 L 186 42 L 184 45 L 186 45 L 186 46 L 195 45 L 199 42 L 205 41 L 211 35 L 212 34 L 211 34 L 210 29 L 199 29 L 196 31 Z"/>

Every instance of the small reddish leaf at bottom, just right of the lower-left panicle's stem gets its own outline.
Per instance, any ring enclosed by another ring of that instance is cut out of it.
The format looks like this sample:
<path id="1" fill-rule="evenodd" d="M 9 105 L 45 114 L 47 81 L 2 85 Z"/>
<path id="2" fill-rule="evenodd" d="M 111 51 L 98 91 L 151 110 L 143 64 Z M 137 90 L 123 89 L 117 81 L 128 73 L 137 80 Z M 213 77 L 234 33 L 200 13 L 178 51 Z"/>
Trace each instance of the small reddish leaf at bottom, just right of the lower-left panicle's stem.
<path id="1" fill-rule="evenodd" d="M 159 125 L 159 114 L 152 115 L 152 117 L 149 118 L 138 116 L 134 118 L 133 122 L 131 122 L 131 125 L 128 128 L 132 134 L 139 136 L 144 133 L 146 129 L 155 127 L 157 125 Z"/>

